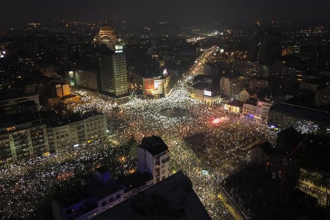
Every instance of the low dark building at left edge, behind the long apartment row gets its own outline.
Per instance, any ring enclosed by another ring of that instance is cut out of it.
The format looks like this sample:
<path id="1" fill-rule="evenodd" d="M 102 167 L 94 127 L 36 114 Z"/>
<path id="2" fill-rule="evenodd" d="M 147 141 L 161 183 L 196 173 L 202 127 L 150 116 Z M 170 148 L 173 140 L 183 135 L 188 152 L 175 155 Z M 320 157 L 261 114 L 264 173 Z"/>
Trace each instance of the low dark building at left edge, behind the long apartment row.
<path id="1" fill-rule="evenodd" d="M 0 100 L 0 108 L 5 111 L 7 114 L 16 113 L 16 104 L 19 102 L 33 101 L 35 102 L 37 109 L 40 109 L 39 96 L 35 95 L 26 95 L 12 98 L 4 98 Z"/>

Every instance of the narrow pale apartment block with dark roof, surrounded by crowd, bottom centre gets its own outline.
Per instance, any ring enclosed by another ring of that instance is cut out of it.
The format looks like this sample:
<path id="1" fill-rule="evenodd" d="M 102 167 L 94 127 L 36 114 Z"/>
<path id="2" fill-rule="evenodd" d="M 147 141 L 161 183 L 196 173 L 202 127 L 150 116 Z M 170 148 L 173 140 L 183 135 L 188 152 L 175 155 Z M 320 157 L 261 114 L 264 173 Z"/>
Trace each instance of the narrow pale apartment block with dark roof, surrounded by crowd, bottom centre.
<path id="1" fill-rule="evenodd" d="M 154 184 L 169 176 L 169 152 L 162 138 L 145 137 L 137 146 L 138 171 L 152 175 Z"/>

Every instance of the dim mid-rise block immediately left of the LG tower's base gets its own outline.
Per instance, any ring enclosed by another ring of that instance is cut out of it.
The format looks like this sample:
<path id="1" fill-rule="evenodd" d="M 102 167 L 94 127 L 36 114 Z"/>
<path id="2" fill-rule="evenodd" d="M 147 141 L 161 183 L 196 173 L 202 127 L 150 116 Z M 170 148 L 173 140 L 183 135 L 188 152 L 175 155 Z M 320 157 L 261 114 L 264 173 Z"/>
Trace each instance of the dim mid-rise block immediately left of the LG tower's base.
<path id="1" fill-rule="evenodd" d="M 77 85 L 99 91 L 99 72 L 96 70 L 76 69 Z"/>

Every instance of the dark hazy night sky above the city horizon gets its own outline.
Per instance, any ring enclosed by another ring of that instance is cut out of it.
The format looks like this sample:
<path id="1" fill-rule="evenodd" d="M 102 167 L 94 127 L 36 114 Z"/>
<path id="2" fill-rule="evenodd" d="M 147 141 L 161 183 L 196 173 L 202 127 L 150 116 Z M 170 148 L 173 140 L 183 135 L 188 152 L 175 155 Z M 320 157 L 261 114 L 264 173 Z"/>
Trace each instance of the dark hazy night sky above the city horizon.
<path id="1" fill-rule="evenodd" d="M 1 19 L 244 21 L 329 19 L 330 0 L 0 0 Z"/>

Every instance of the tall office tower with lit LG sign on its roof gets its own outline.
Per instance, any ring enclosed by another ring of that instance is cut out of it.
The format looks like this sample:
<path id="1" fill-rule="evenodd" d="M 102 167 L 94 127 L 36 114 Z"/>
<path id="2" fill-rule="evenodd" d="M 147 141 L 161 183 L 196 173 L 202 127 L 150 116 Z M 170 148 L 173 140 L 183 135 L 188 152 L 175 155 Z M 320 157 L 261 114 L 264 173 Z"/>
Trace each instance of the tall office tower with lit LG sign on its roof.
<path id="1" fill-rule="evenodd" d="M 126 54 L 121 44 L 115 45 L 115 51 L 100 54 L 101 90 L 115 96 L 128 93 Z"/>

